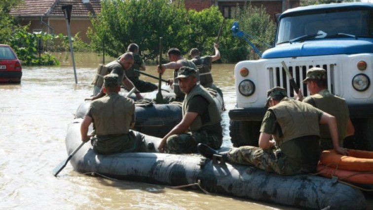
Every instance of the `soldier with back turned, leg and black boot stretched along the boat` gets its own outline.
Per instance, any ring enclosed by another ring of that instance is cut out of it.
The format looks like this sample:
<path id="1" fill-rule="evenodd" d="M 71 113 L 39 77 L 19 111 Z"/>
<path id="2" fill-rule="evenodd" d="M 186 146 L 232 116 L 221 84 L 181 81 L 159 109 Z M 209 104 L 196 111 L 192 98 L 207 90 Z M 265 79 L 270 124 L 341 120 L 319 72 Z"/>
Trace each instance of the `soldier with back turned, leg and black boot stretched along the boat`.
<path id="1" fill-rule="evenodd" d="M 333 141 L 337 143 L 335 117 L 307 103 L 289 99 L 282 87 L 269 89 L 267 97 L 265 105 L 269 108 L 261 124 L 260 148 L 233 148 L 227 153 L 220 153 L 223 159 L 282 175 L 314 171 L 320 158 L 319 123 L 328 124 Z M 197 149 L 210 159 L 218 153 L 204 144 L 198 144 Z M 344 148 L 338 147 L 336 151 L 347 154 Z"/>

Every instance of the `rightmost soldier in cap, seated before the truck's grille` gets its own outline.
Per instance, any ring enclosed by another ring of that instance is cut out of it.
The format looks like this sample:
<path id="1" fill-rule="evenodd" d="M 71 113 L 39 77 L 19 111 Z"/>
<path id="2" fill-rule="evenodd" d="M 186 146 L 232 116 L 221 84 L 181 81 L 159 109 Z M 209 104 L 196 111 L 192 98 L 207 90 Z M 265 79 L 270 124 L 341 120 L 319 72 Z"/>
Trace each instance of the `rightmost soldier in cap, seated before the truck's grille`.
<path id="1" fill-rule="evenodd" d="M 336 117 L 339 137 L 338 145 L 343 145 L 343 140 L 346 136 L 350 136 L 350 139 L 353 139 L 352 135 L 355 132 L 355 128 L 350 120 L 347 103 L 343 98 L 331 94 L 327 89 L 326 70 L 319 67 L 309 69 L 303 83 L 307 84 L 311 94 L 304 98 L 303 102 L 309 103 Z M 299 100 L 303 98 L 301 91 L 298 92 L 298 97 Z M 334 148 L 328 126 L 320 125 L 320 137 L 321 151 Z"/>

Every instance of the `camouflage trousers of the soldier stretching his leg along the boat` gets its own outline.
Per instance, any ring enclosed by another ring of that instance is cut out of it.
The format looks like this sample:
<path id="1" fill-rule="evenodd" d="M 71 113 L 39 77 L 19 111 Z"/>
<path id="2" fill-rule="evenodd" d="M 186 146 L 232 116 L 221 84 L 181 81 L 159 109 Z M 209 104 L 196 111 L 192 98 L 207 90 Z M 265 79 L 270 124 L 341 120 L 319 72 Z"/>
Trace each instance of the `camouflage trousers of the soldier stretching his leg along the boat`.
<path id="1" fill-rule="evenodd" d="M 255 166 L 266 172 L 281 175 L 310 172 L 307 168 L 301 167 L 296 160 L 286 157 L 280 149 L 262 150 L 259 147 L 242 146 L 228 152 L 228 162 Z"/>

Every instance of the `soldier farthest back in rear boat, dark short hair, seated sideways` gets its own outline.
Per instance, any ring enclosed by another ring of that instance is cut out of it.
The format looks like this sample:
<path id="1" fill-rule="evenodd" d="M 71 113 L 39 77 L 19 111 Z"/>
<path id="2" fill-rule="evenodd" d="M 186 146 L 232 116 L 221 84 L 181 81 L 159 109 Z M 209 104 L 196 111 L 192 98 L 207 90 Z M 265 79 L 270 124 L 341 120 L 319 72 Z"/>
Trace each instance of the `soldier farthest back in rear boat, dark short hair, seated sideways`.
<path id="1" fill-rule="evenodd" d="M 132 67 L 126 71 L 127 78 L 136 86 L 136 88 L 140 92 L 151 92 L 158 89 L 156 84 L 140 80 L 140 73 L 133 71 L 134 69 L 139 71 L 146 70 L 145 63 L 139 55 L 139 46 L 135 43 L 131 43 L 128 45 L 127 51 L 132 52 L 134 60 Z M 120 57 L 122 57 L 123 55 L 121 55 Z M 118 59 L 120 59 L 120 57 Z"/>

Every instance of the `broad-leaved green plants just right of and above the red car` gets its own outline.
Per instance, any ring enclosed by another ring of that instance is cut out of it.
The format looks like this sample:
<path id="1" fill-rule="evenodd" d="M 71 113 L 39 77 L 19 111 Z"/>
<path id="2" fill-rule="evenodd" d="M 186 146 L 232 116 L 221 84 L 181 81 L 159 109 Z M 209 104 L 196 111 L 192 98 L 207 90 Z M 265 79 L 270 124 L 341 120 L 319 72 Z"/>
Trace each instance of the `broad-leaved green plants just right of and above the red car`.
<path id="1" fill-rule="evenodd" d="M 26 31 L 18 31 L 13 34 L 9 44 L 13 47 L 18 58 L 22 60 L 24 65 L 58 65 L 59 61 L 53 55 L 44 52 L 37 57 L 38 42 L 47 42 L 56 37 L 44 32 L 28 33 Z"/>

